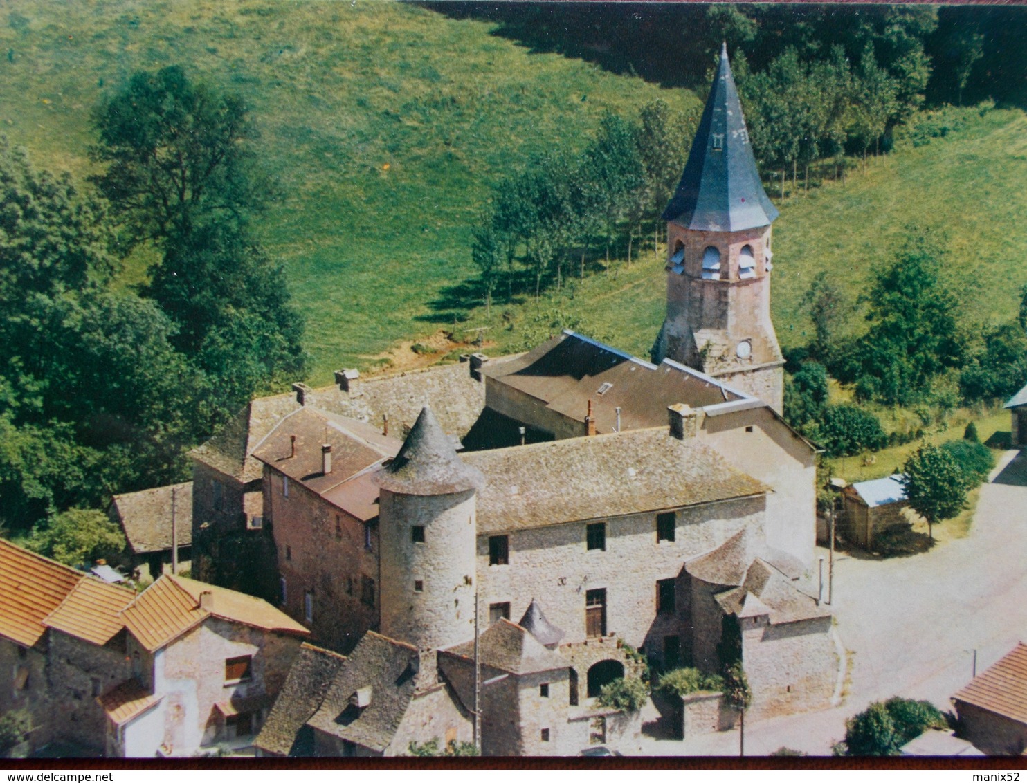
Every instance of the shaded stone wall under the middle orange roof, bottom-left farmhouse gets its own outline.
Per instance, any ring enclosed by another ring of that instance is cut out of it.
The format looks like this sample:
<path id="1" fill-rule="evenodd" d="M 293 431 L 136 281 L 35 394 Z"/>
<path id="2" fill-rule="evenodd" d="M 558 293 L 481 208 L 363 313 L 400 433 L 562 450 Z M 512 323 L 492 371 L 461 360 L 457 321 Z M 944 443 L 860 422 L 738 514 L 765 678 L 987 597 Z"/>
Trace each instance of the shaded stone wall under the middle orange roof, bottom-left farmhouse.
<path id="1" fill-rule="evenodd" d="M 50 698 L 61 739 L 103 750 L 107 718 L 97 697 L 131 676 L 125 632 L 104 645 L 50 630 Z"/>

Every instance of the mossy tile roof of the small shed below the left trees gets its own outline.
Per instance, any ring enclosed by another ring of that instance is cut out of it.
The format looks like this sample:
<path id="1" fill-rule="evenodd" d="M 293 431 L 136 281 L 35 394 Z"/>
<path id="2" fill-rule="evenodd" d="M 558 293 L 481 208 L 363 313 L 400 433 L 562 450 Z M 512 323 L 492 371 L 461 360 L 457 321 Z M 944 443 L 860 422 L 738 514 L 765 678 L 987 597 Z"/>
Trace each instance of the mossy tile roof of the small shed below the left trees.
<path id="1" fill-rule="evenodd" d="M 179 546 L 192 544 L 192 481 L 115 495 L 112 510 L 136 554 L 172 548 L 172 496 Z"/>

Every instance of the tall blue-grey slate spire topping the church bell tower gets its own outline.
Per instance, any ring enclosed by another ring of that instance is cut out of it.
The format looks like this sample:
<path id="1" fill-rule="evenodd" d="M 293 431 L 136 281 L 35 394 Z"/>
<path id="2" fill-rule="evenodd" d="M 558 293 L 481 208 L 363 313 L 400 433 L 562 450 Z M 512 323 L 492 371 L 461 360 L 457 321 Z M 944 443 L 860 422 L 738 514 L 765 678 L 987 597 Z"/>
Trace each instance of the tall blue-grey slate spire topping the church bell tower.
<path id="1" fill-rule="evenodd" d="M 776 217 L 756 169 L 725 43 L 685 172 L 663 220 L 698 231 L 740 231 L 769 226 Z"/>

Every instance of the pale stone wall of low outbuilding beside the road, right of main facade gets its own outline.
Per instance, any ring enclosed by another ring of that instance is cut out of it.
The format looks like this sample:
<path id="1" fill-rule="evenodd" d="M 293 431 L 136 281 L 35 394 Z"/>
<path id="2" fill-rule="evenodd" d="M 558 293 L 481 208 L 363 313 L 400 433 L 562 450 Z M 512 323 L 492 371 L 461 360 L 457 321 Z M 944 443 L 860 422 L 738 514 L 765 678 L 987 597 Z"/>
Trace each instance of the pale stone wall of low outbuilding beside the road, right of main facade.
<path id="1" fill-rule="evenodd" d="M 827 707 L 839 662 L 831 618 L 770 625 L 766 617 L 744 618 L 743 665 L 753 691 L 753 720 Z"/>

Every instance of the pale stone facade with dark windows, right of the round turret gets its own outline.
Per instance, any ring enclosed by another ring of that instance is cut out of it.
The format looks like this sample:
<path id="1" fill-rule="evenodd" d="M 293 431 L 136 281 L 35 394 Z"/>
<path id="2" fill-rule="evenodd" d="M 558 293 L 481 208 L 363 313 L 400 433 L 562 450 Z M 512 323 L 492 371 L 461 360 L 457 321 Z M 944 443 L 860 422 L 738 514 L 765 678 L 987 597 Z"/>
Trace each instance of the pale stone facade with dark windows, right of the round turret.
<path id="1" fill-rule="evenodd" d="M 566 633 L 565 642 L 584 641 L 585 593 L 604 588 L 607 633 L 659 657 L 661 651 L 649 647 L 668 629 L 677 627 L 683 635 L 688 605 L 687 591 L 679 589 L 677 619 L 657 617 L 657 580 L 677 579 L 686 559 L 743 528 L 762 534 L 764 507 L 759 497 L 681 509 L 673 542 L 657 542 L 655 514 L 607 519 L 605 550 L 586 549 L 585 522 L 511 531 L 506 565 L 489 564 L 489 537 L 480 536 L 483 612 L 491 603 L 509 602 L 510 620 L 517 622 L 535 597 L 549 622 Z"/>

